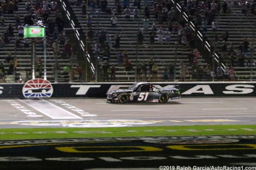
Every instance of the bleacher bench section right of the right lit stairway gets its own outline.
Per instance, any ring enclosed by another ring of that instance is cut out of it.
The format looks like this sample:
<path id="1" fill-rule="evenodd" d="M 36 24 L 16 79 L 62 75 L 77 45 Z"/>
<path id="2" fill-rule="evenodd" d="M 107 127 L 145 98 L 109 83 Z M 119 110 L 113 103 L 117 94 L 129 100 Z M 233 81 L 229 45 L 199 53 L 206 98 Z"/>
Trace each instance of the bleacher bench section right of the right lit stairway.
<path id="1" fill-rule="evenodd" d="M 224 3 L 224 0 L 220 0 L 221 6 Z M 200 4 L 202 1 L 200 0 Z M 248 0 L 248 3 L 252 3 L 251 0 Z M 204 15 L 204 10 L 200 10 L 201 14 Z M 218 56 L 221 56 L 221 48 L 222 48 L 222 35 L 228 31 L 229 38 L 227 41 L 227 45 L 230 43 L 234 45 L 234 50 L 238 50 L 238 46 L 244 41 L 245 38 L 250 39 L 254 38 L 254 27 L 255 27 L 255 19 L 256 17 L 251 14 L 250 8 L 247 10 L 247 16 L 241 13 L 241 8 L 239 5 L 232 5 L 231 14 L 224 14 L 221 8 L 221 13 L 219 13 L 216 17 L 217 20 L 217 35 L 219 37 L 218 43 L 216 43 L 215 52 Z M 194 22 L 196 21 L 196 17 L 194 16 Z M 202 33 L 202 26 L 198 26 L 198 29 Z M 208 42 L 213 45 L 215 32 L 212 31 L 212 25 L 208 25 L 208 31 L 205 33 L 205 36 L 208 38 Z M 255 40 L 254 40 L 255 41 Z M 254 46 L 256 43 L 254 43 Z M 249 46 L 250 48 L 250 46 Z M 249 49 L 248 49 L 249 51 Z M 250 52 L 248 52 L 250 54 Z M 256 53 L 254 52 L 253 57 L 250 55 L 245 57 L 245 63 L 248 59 L 256 60 Z M 223 58 L 224 63 L 229 62 L 229 56 Z M 252 61 L 252 62 L 253 62 Z M 251 67 L 238 67 L 237 62 L 235 62 L 234 70 L 236 71 L 237 80 L 251 80 Z M 256 80 L 256 67 L 252 68 L 252 80 Z"/>

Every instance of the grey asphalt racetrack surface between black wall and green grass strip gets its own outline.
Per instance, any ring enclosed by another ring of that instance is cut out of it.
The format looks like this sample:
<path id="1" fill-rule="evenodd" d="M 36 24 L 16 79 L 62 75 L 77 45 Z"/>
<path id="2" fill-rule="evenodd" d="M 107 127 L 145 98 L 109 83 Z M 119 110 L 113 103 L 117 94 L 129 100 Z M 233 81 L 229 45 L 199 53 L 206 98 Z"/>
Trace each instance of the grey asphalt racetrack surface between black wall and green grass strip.
<path id="1" fill-rule="evenodd" d="M 165 104 L 110 104 L 88 98 L 1 99 L 0 128 L 56 128 L 70 121 L 80 127 L 256 124 L 255 102 L 256 98 L 249 97 L 181 98 Z"/>

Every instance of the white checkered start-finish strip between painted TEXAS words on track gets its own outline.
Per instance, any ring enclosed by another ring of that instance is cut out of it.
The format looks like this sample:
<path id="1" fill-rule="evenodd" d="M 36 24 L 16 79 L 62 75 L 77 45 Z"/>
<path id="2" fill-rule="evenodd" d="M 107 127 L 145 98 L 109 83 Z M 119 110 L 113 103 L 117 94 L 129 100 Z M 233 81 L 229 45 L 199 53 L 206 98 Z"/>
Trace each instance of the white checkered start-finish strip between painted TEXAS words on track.
<path id="1" fill-rule="evenodd" d="M 20 100 L 19 101 L 27 104 L 28 106 L 34 108 L 38 112 L 52 118 L 52 119 L 83 119 L 65 109 L 56 106 L 46 100 Z"/>

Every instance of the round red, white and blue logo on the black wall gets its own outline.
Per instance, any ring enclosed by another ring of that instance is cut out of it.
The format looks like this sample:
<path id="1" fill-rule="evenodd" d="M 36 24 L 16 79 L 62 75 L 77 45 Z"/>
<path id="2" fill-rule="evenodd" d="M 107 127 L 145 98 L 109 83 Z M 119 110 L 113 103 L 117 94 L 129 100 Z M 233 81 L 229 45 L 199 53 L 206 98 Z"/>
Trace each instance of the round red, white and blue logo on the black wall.
<path id="1" fill-rule="evenodd" d="M 51 82 L 44 79 L 29 80 L 22 89 L 23 96 L 26 98 L 43 98 L 51 97 L 53 94 L 53 86 Z"/>

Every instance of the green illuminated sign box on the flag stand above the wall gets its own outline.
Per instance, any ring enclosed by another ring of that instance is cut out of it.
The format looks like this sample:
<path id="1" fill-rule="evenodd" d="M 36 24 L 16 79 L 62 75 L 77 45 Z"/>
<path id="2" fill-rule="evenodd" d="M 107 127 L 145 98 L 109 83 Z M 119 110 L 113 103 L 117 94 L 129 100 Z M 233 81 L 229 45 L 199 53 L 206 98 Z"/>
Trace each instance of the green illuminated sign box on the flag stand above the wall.
<path id="1" fill-rule="evenodd" d="M 44 27 L 25 27 L 24 38 L 44 38 Z"/>

